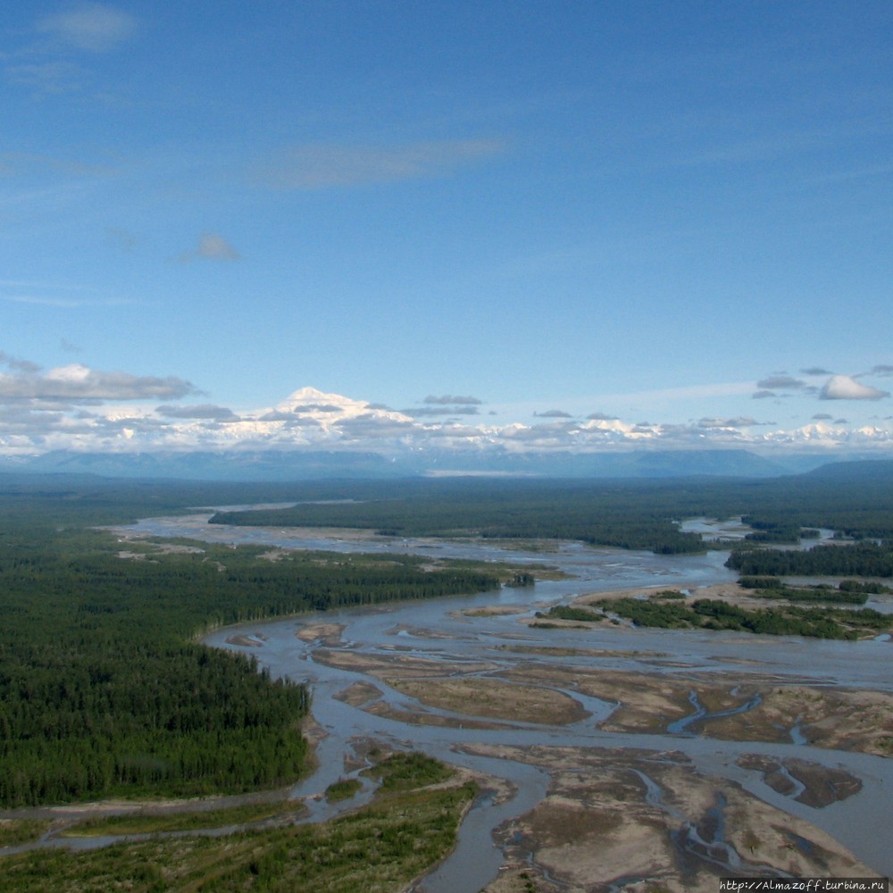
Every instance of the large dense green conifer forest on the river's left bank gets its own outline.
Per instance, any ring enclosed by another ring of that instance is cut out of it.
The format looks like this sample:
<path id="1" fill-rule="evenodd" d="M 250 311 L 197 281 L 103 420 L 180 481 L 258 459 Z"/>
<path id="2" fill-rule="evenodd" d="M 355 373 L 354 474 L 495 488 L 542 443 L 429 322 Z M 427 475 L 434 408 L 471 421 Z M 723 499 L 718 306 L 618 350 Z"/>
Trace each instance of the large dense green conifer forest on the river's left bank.
<path id="1" fill-rule="evenodd" d="M 69 508 L 61 512 L 73 521 Z M 305 688 L 195 644 L 198 632 L 498 586 L 489 575 L 426 572 L 421 559 L 391 556 L 270 562 L 260 549 L 208 546 L 122 558 L 111 536 L 60 531 L 38 515 L 0 500 L 4 806 L 295 780 L 306 760 Z"/>

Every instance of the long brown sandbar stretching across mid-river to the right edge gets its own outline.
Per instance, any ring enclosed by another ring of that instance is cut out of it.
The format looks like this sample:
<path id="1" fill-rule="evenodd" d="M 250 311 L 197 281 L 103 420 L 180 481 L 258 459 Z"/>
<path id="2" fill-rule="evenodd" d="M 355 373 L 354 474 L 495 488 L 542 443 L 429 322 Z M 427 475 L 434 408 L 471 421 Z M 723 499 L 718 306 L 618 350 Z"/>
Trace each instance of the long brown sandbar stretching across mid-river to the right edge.
<path id="1" fill-rule="evenodd" d="M 691 696 L 708 712 L 688 730 L 705 738 L 789 743 L 796 728 L 809 744 L 834 750 L 893 755 L 893 696 L 863 689 L 779 685 L 757 674 L 615 671 L 531 662 L 501 671 L 496 663 L 444 663 L 413 655 L 363 655 L 318 649 L 316 660 L 365 672 L 430 707 L 478 719 L 518 722 L 578 722 L 585 712 L 572 693 L 616 705 L 600 723 L 605 731 L 659 734 L 695 712 Z M 480 673 L 491 675 L 481 677 Z M 514 683 L 514 684 L 510 684 Z M 563 694 L 555 689 L 564 689 Z M 744 713 L 711 718 L 748 702 Z M 380 706 L 377 710 L 392 710 Z M 413 710 L 404 721 L 447 725 Z M 550 718 L 554 717 L 554 718 Z M 395 717 L 396 718 L 396 717 Z"/>

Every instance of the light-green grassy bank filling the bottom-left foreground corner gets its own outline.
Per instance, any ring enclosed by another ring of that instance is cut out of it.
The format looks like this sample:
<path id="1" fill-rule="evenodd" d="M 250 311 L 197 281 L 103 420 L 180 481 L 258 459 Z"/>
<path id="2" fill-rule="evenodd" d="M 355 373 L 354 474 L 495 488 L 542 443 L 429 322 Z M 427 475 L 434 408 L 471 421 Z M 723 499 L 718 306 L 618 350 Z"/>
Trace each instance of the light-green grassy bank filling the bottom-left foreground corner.
<path id="1" fill-rule="evenodd" d="M 399 755 L 384 772 L 418 780 L 438 772 Z M 388 760 L 384 761 L 388 764 Z M 410 771 L 409 767 L 414 766 Z M 4 893 L 78 890 L 135 893 L 211 890 L 236 893 L 369 893 L 405 886 L 455 845 L 455 831 L 477 792 L 472 783 L 400 790 L 332 822 L 245 831 L 221 838 L 188 836 L 86 852 L 41 849 L 0 862 Z"/>

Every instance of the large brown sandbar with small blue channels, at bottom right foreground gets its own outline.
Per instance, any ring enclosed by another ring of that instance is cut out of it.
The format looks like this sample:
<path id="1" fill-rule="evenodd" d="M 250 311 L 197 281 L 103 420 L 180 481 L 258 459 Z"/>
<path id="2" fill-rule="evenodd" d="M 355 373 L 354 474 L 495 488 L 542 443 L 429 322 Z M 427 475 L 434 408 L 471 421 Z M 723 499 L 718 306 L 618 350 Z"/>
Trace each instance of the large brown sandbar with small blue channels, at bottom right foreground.
<path id="1" fill-rule="evenodd" d="M 464 749 L 535 764 L 551 777 L 546 799 L 499 830 L 510 868 L 488 893 L 512 889 L 509 878 L 522 880 L 522 873 L 580 893 L 617 883 L 715 893 L 717 877 L 729 873 L 722 863 L 729 860 L 739 860 L 738 873 L 755 876 L 767 868 L 795 877 L 875 873 L 814 825 L 733 782 L 697 772 L 679 754 Z"/>

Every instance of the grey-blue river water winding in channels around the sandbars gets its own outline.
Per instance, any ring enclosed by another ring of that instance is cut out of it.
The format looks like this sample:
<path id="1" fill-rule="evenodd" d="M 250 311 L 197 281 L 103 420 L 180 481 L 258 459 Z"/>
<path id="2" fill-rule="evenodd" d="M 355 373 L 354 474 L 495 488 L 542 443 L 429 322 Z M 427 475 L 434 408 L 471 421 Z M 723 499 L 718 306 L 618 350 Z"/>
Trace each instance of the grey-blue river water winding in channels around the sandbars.
<path id="1" fill-rule="evenodd" d="M 217 630 L 205 638 L 206 644 L 255 655 L 273 676 L 287 676 L 305 682 L 313 693 L 313 716 L 327 733 L 318 755 L 320 768 L 292 792 L 307 797 L 311 819 L 322 820 L 371 797 L 367 785 L 347 805 L 329 805 L 317 798 L 333 782 L 346 776 L 343 757 L 352 752 L 355 739 L 381 739 L 403 749 L 419 749 L 450 764 L 510 781 L 516 794 L 506 802 L 481 797 L 463 822 L 458 846 L 446 863 L 421 881 L 424 893 L 462 893 L 484 887 L 497 875 L 503 854 L 493 843 L 491 832 L 506 819 L 524 814 L 545 796 L 546 772 L 510 759 L 492 759 L 463 753 L 463 745 L 497 744 L 525 747 L 615 748 L 678 750 L 688 755 L 699 772 L 738 782 L 744 789 L 789 814 L 797 815 L 826 830 L 832 837 L 872 867 L 893 875 L 893 823 L 889 804 L 893 802 L 893 760 L 881 757 L 830 751 L 809 747 L 803 742 L 792 718 L 791 743 L 764 744 L 754 741 L 721 741 L 693 735 L 688 722 L 680 722 L 665 734 L 623 734 L 605 732 L 597 720 L 610 712 L 611 705 L 596 698 L 568 691 L 583 703 L 587 719 L 570 726 L 505 723 L 488 730 L 420 726 L 373 715 L 347 705 L 335 695 L 356 681 L 373 681 L 382 699 L 397 709 L 420 708 L 412 697 L 389 689 L 380 680 L 362 672 L 336 669 L 314 660 L 320 649 L 330 647 L 320 640 L 296 638 L 302 628 L 316 623 L 343 625 L 341 645 L 359 655 L 387 655 L 395 652 L 449 663 L 486 661 L 500 669 L 511 669 L 514 661 L 530 662 L 530 654 L 511 650 L 519 646 L 580 649 L 585 655 L 550 658 L 538 654 L 544 671 L 551 661 L 563 667 L 588 669 L 604 667 L 630 672 L 718 672 L 758 673 L 766 678 L 804 682 L 819 686 L 864 687 L 893 690 L 889 671 L 891 645 L 884 641 L 839 642 L 752 636 L 686 630 L 618 629 L 605 625 L 593 630 L 531 629 L 519 622 L 543 605 L 566 602 L 584 593 L 621 588 L 684 588 L 697 594 L 697 588 L 727 580 L 736 574 L 723 566 L 724 552 L 705 555 L 652 555 L 564 543 L 550 552 L 520 552 L 486 543 L 458 543 L 436 540 L 388 540 L 355 542 L 346 538 L 307 538 L 300 530 L 272 530 L 208 525 L 208 514 L 189 518 L 154 518 L 128 529 L 128 535 L 188 537 L 225 543 L 265 543 L 271 546 L 327 549 L 340 552 L 406 552 L 431 557 L 471 558 L 482 561 L 547 563 L 568 576 L 562 580 L 542 580 L 534 588 L 503 588 L 468 597 L 452 597 L 371 609 L 340 610 L 302 615 L 288 620 L 252 622 Z M 476 607 L 500 605 L 520 609 L 521 614 L 469 617 L 462 612 Z M 234 645 L 238 634 L 254 638 L 255 647 Z M 604 650 L 604 654 L 596 654 Z M 746 663 L 742 663 L 746 662 Z M 425 711 L 462 719 L 459 714 Z M 700 712 L 700 713 L 699 713 Z M 692 701 L 692 716 L 704 708 Z M 863 782 L 861 791 L 846 800 L 822 809 L 798 803 L 764 784 L 758 773 L 735 764 L 742 754 L 764 754 L 776 758 L 797 757 L 851 772 Z M 732 865 L 728 866 L 730 869 Z"/>

